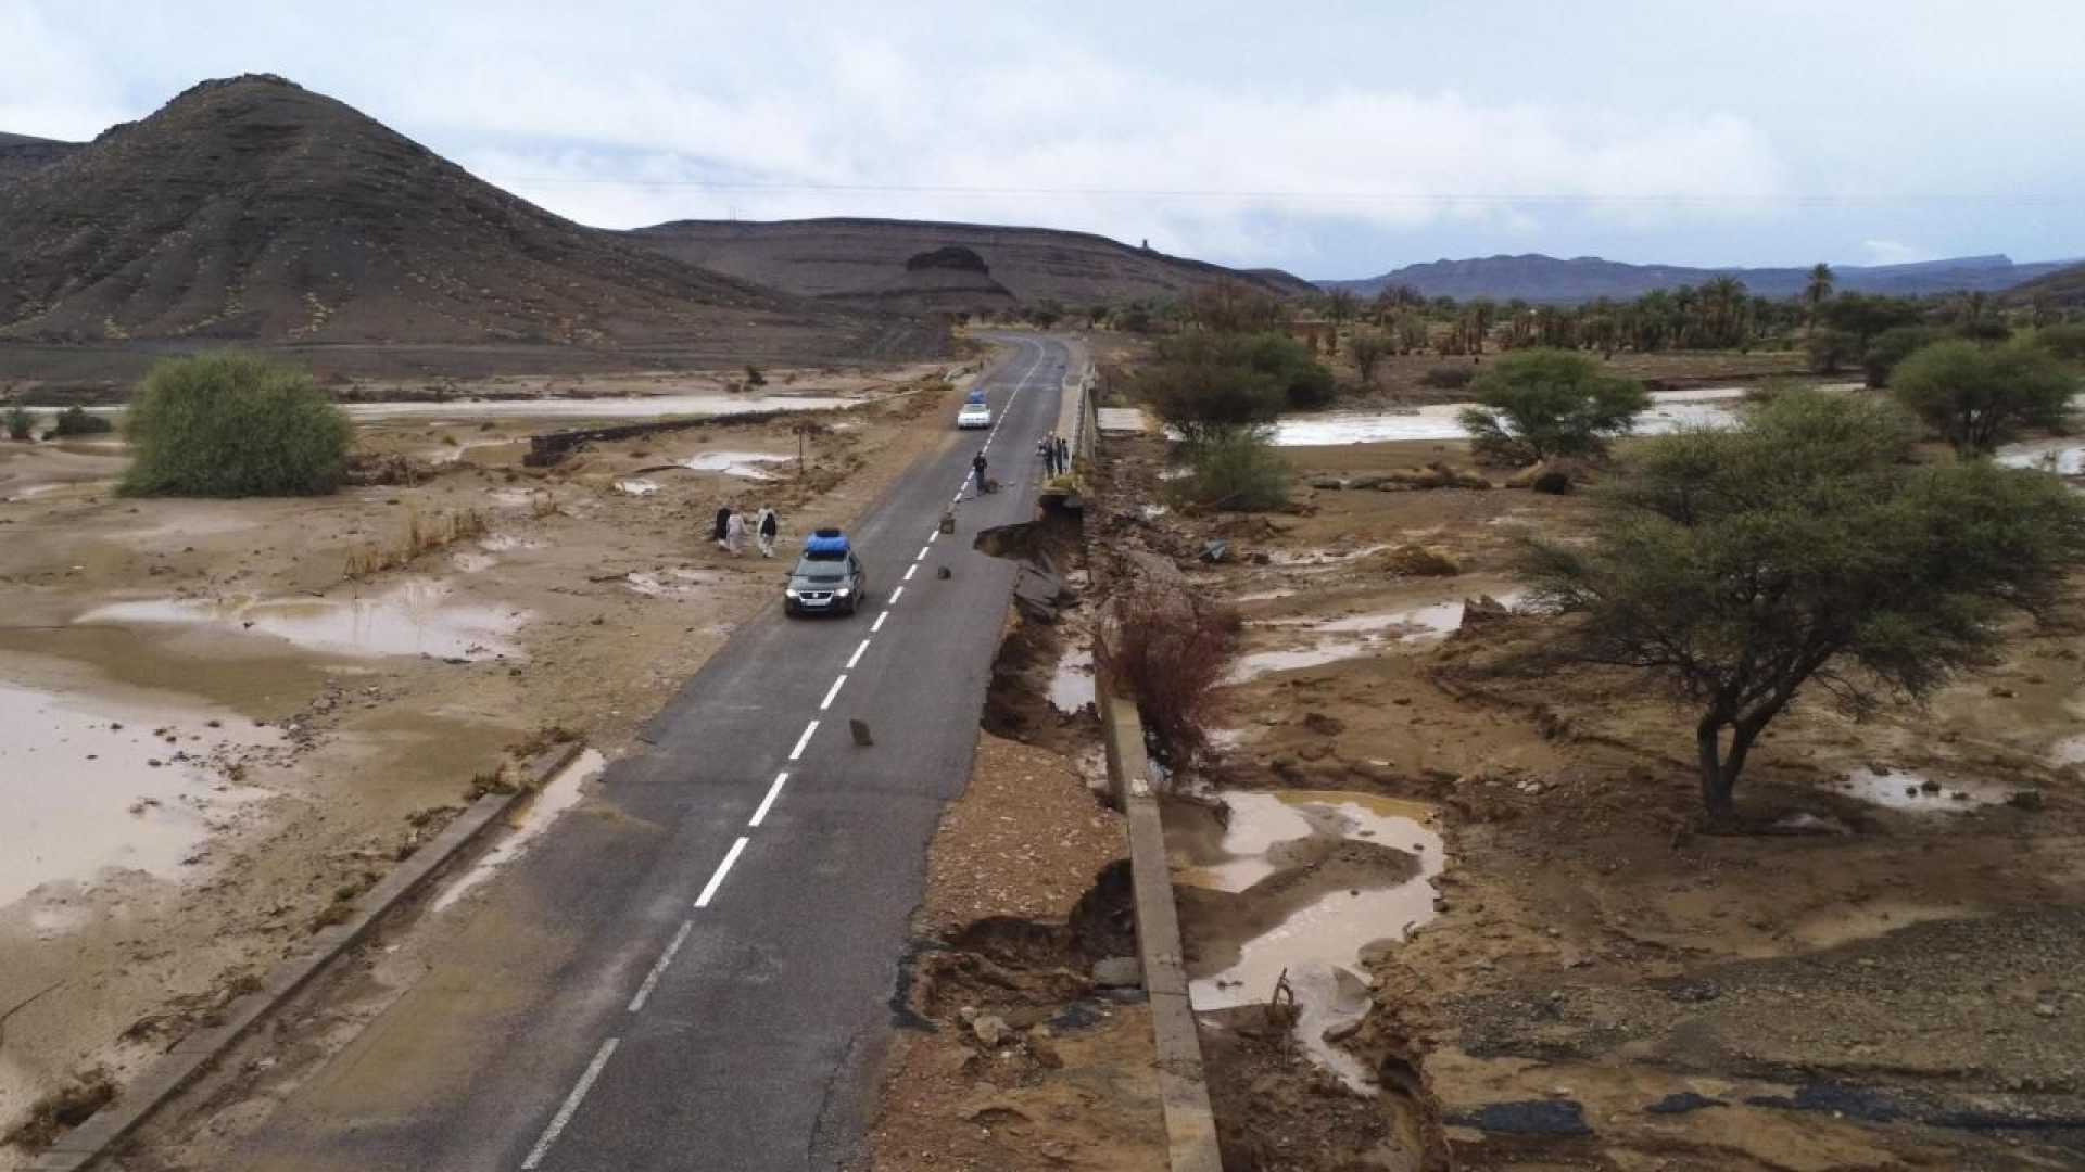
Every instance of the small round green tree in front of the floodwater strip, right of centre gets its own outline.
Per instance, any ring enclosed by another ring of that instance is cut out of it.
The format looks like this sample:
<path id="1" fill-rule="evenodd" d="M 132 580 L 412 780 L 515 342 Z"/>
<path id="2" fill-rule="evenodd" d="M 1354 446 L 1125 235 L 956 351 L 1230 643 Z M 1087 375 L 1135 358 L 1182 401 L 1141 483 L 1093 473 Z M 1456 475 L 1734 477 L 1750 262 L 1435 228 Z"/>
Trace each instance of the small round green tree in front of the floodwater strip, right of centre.
<path id="1" fill-rule="evenodd" d="M 1491 463 L 1597 455 L 1651 405 L 1643 384 L 1601 373 L 1572 350 L 1516 350 L 1472 386 L 1478 405 L 1457 419 L 1470 450 Z"/>

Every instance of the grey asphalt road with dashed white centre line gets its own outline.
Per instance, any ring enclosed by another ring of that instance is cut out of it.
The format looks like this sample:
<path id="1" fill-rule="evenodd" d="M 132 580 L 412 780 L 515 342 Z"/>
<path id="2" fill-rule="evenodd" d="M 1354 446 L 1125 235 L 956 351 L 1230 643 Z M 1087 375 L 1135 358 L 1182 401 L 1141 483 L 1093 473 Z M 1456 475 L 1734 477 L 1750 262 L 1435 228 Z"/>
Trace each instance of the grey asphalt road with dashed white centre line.
<path id="1" fill-rule="evenodd" d="M 853 619 L 784 619 L 778 563 L 776 609 L 446 913 L 432 970 L 238 1166 L 757 1172 L 857 1151 L 926 845 L 970 778 L 1015 578 L 972 540 L 1030 519 L 1070 361 L 1049 338 L 1009 342 L 980 384 L 1005 488 L 938 534 L 984 434 L 922 459 L 851 534 L 872 599 Z"/>

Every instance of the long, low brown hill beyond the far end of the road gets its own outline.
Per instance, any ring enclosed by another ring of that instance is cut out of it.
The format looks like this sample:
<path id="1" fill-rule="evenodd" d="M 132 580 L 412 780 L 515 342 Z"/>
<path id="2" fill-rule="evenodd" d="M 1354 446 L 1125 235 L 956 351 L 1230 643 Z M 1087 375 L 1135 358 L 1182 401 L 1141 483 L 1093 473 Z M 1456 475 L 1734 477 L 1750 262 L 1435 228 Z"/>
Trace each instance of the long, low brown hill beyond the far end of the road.
<path id="1" fill-rule="evenodd" d="M 1316 292 L 1307 282 L 1274 269 L 1224 269 L 1049 227 L 911 219 L 680 219 L 626 236 L 676 261 L 792 294 L 911 311 L 1174 298 L 1226 279 L 1278 296 Z"/>

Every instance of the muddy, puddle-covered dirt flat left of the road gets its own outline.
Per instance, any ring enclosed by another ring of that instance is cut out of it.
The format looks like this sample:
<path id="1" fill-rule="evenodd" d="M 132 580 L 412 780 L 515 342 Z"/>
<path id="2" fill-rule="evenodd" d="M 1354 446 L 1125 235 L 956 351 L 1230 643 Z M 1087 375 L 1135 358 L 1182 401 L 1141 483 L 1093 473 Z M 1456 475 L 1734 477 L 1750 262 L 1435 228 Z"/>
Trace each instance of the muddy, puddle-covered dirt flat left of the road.
<path id="1" fill-rule="evenodd" d="M 778 561 L 717 548 L 715 509 L 776 507 L 792 557 L 959 398 L 805 415 L 803 475 L 794 417 L 550 471 L 521 467 L 540 423 L 365 423 L 388 482 L 313 500 L 131 500 L 119 442 L 0 444 L 0 1134 L 206 1022 L 502 757 L 615 755 L 776 605 Z"/>

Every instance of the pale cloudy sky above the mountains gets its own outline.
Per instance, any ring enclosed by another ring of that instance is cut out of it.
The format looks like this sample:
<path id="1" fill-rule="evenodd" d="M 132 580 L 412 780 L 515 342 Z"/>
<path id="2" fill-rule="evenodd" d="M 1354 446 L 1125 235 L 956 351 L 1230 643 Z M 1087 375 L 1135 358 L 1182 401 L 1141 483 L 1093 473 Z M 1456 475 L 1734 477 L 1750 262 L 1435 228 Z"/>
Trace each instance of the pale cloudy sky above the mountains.
<path id="1" fill-rule="evenodd" d="M 553 211 L 1493 252 L 2085 257 L 2085 0 L 0 0 L 0 131 L 281 73 Z"/>

